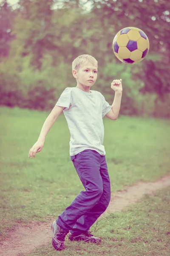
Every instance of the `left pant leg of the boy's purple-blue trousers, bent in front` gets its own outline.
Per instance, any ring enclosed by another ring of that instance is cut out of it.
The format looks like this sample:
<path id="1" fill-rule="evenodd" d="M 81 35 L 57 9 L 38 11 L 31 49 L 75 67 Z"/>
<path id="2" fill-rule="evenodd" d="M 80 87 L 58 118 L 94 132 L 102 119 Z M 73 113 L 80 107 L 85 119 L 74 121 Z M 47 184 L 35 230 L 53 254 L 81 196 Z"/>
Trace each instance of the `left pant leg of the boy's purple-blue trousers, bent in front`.
<path id="1" fill-rule="evenodd" d="M 56 220 L 57 224 L 66 232 L 72 230 L 77 219 L 94 207 L 103 193 L 100 154 L 93 150 L 84 150 L 74 157 L 73 163 L 85 186 L 85 191 L 81 191 Z"/>

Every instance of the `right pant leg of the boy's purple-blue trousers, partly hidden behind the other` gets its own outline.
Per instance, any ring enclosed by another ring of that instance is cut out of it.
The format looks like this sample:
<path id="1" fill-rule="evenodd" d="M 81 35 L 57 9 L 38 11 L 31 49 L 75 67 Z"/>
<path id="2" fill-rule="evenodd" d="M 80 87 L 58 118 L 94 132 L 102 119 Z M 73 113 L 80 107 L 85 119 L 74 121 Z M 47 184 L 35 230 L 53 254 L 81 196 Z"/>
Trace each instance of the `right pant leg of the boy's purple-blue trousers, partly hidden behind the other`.
<path id="1" fill-rule="evenodd" d="M 93 208 L 85 212 L 74 225 L 73 229 L 70 230 L 71 233 L 83 233 L 90 229 L 94 222 L 99 218 L 99 216 L 105 212 L 109 202 L 111 200 L 111 183 L 108 174 L 108 167 L 105 160 L 105 156 L 101 156 L 101 166 L 100 175 L 102 177 L 103 183 L 103 193 L 98 203 L 94 205 Z"/>

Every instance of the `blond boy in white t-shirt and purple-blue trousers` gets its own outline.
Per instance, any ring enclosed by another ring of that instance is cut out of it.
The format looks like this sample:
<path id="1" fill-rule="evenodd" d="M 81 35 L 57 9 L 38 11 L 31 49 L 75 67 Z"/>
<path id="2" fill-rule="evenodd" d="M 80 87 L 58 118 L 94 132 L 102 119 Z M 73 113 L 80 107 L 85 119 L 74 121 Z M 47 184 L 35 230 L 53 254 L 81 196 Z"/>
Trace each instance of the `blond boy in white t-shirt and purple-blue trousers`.
<path id="1" fill-rule="evenodd" d="M 111 184 L 105 160 L 103 144 L 104 126 L 102 118 L 106 115 L 116 120 L 122 98 L 122 79 L 113 80 L 115 90 L 113 105 L 104 96 L 90 90 L 97 79 L 98 63 L 91 55 L 80 55 L 72 64 L 72 74 L 77 80 L 76 87 L 67 87 L 51 111 L 37 142 L 29 151 L 29 157 L 42 150 L 45 136 L 57 117 L 64 112 L 71 133 L 71 161 L 85 187 L 85 191 L 74 199 L 57 220 L 51 224 L 52 245 L 63 250 L 65 236 L 70 241 L 100 242 L 92 235 L 90 227 L 105 212 L 111 198 Z"/>

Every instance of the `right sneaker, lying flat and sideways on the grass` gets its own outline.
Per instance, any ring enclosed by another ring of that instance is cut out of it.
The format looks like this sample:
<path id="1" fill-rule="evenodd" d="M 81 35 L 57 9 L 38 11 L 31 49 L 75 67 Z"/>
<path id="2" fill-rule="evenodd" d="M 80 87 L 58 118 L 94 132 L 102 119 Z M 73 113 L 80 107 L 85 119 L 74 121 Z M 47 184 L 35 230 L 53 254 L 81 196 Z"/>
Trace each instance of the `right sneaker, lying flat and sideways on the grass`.
<path id="1" fill-rule="evenodd" d="M 90 231 L 86 231 L 78 236 L 74 236 L 73 234 L 69 233 L 68 239 L 70 241 L 85 241 L 91 243 L 98 243 L 101 242 L 101 239 L 92 235 Z"/>

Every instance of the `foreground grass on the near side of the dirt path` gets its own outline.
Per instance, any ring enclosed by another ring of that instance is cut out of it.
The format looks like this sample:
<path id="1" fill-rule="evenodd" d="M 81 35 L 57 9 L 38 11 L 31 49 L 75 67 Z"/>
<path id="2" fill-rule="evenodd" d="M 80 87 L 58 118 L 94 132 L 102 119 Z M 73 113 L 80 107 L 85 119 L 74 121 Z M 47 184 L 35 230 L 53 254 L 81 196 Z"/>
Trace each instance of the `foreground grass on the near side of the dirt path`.
<path id="1" fill-rule="evenodd" d="M 91 231 L 102 239 L 100 245 L 71 242 L 66 237 L 62 252 L 49 243 L 27 256 L 169 256 L 170 189 L 145 195 L 126 211 L 110 214 L 94 224 Z"/>

